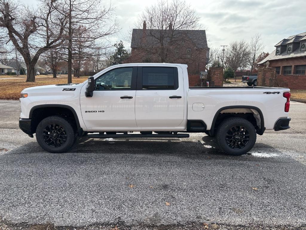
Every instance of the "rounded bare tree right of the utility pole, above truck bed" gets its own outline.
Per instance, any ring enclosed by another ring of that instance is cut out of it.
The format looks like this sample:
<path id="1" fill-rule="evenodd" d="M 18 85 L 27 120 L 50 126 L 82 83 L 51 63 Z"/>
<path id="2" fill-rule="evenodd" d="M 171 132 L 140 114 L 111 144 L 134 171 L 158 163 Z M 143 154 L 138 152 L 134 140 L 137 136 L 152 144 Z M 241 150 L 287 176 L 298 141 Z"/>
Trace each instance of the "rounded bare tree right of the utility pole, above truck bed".
<path id="1" fill-rule="evenodd" d="M 224 53 L 224 66 L 232 67 L 234 71 L 243 70 L 248 67 L 248 57 L 250 49 L 248 43 L 244 40 L 233 41 L 227 47 Z"/>

